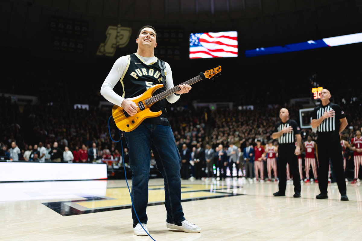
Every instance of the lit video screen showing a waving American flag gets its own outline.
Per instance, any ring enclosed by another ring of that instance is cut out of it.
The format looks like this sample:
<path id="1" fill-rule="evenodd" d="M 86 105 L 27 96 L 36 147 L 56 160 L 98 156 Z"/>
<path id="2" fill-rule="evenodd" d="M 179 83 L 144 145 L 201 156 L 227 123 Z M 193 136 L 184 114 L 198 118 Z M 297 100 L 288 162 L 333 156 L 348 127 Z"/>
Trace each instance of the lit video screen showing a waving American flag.
<path id="1" fill-rule="evenodd" d="M 190 59 L 237 57 L 237 32 L 190 34 Z"/>

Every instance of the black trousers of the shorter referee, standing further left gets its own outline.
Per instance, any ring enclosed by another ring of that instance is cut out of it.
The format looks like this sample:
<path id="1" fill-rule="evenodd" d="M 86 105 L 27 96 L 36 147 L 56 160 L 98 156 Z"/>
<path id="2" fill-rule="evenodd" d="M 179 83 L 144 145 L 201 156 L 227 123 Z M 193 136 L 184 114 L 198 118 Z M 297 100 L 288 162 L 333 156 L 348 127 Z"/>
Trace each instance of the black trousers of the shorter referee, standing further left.
<path id="1" fill-rule="evenodd" d="M 294 143 L 282 144 L 278 147 L 279 192 L 283 194 L 287 186 L 287 163 L 289 163 L 290 174 L 293 176 L 294 193 L 300 194 L 298 156 L 294 154 L 294 151 Z"/>

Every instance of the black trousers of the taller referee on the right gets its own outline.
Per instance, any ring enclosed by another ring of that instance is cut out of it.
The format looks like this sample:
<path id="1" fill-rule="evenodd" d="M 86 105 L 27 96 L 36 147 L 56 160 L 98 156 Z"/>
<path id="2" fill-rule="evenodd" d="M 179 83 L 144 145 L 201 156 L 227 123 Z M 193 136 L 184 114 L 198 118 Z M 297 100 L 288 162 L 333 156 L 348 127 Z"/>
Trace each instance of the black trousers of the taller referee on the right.
<path id="1" fill-rule="evenodd" d="M 318 134 L 318 185 L 321 194 L 327 194 L 329 158 L 336 174 L 338 190 L 346 194 L 346 182 L 343 170 L 343 157 L 338 133 Z"/>

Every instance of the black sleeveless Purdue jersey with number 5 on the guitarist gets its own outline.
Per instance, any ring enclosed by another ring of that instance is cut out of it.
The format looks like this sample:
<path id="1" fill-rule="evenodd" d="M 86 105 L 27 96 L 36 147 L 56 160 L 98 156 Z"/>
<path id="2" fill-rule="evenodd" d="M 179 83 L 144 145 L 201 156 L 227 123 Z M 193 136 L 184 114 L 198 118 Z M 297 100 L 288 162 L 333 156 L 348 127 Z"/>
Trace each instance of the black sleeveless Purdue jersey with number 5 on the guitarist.
<path id="1" fill-rule="evenodd" d="M 120 79 L 123 88 L 123 98 L 127 99 L 136 97 L 143 94 L 153 85 L 163 84 L 161 69 L 157 63 L 157 58 L 152 63 L 146 64 L 135 53 L 128 56 L 127 67 Z M 160 94 L 164 91 L 165 86 L 153 92 L 153 95 Z M 144 119 L 143 122 L 171 126 L 168 122 L 168 115 L 165 106 L 165 98 L 157 101 L 150 107 L 150 110 L 153 112 L 162 111 L 162 114 L 157 117 Z"/>

